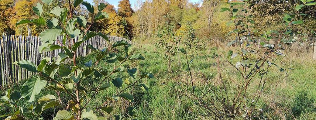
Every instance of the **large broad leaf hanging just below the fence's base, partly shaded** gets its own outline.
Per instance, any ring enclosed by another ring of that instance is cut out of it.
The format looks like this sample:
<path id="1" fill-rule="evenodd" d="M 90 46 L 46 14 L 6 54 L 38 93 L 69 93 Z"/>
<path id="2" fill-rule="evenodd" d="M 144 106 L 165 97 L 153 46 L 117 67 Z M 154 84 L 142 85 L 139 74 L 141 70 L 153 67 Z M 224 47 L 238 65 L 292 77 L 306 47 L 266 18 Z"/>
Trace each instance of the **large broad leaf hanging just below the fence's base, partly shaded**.
<path id="1" fill-rule="evenodd" d="M 41 81 L 40 78 L 31 78 L 26 81 L 21 89 L 22 98 L 26 98 L 29 102 L 33 102 L 35 95 L 46 86 L 47 81 Z"/>

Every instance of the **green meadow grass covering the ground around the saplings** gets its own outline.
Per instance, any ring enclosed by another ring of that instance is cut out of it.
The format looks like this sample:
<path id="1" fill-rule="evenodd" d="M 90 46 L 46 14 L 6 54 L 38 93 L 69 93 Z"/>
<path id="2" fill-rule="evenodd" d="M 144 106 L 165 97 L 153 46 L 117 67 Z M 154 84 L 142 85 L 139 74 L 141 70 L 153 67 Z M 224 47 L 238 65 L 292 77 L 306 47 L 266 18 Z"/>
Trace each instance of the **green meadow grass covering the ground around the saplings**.
<path id="1" fill-rule="evenodd" d="M 104 116 L 113 119 L 113 115 L 123 113 L 127 119 L 163 119 L 163 120 L 187 120 L 187 119 L 212 119 L 212 117 L 206 117 L 204 114 L 207 112 L 196 105 L 191 99 L 188 99 L 178 91 L 179 86 L 176 84 L 179 81 L 187 81 L 189 78 L 188 69 L 186 66 L 185 57 L 181 54 L 175 55 L 172 64 L 172 71 L 168 71 L 167 61 L 164 56 L 160 54 L 152 45 L 140 45 L 136 48 L 139 50 L 135 52 L 142 53 L 146 60 L 135 61 L 124 64 L 125 68 L 136 67 L 140 71 L 149 71 L 154 73 L 155 78 L 144 79 L 143 82 L 149 86 L 149 91 L 143 91 L 139 88 L 131 88 L 126 92 L 134 95 L 135 102 L 129 103 L 125 100 L 118 100 L 116 103 L 109 103 L 108 105 L 114 105 L 114 110 L 111 114 L 105 112 L 99 112 L 98 116 Z M 228 49 L 234 50 L 235 48 L 210 48 L 203 51 L 198 51 L 196 57 L 193 58 L 191 63 L 191 69 L 193 72 L 194 82 L 198 86 L 203 86 L 202 83 L 206 81 L 214 81 L 217 75 L 217 63 L 214 59 L 214 53 L 222 54 L 223 51 Z M 237 48 L 236 48 L 237 49 Z M 286 77 L 280 83 L 273 85 L 269 91 L 263 94 L 259 99 L 258 109 L 262 109 L 262 116 L 269 119 L 315 119 L 316 118 L 316 63 L 309 58 L 309 54 L 302 54 L 299 57 L 295 56 L 285 57 L 284 59 L 277 60 L 278 63 L 287 64 L 293 70 L 290 70 L 288 77 Z M 78 59 L 78 64 L 83 66 L 83 63 L 93 59 L 92 56 L 87 56 Z M 234 61 L 236 62 L 236 61 Z M 111 66 L 101 61 L 99 67 L 102 69 L 112 69 Z M 240 79 L 240 75 L 231 67 L 228 63 L 221 65 L 223 77 L 227 80 Z M 271 76 L 278 75 L 278 69 L 273 69 Z M 128 78 L 128 74 L 117 73 L 113 75 L 109 80 L 115 77 Z M 129 78 L 133 81 L 132 78 Z M 83 81 L 82 85 L 86 88 L 91 86 L 97 86 L 93 84 L 93 77 L 88 77 Z M 95 80 L 98 81 L 98 80 Z M 256 83 L 258 81 L 253 81 Z M 23 83 L 23 82 L 21 82 Z M 21 83 L 15 84 L 13 87 L 15 90 L 21 88 Z M 126 87 L 123 84 L 123 88 Z M 230 92 L 234 92 L 234 86 L 231 86 Z M 250 91 L 254 91 L 255 88 L 251 87 Z M 97 94 L 95 99 L 88 104 L 87 108 L 95 109 L 98 105 L 106 101 L 106 97 L 111 97 L 117 93 L 118 89 L 110 87 L 109 89 Z M 218 91 L 220 92 L 220 91 Z M 2 95 L 4 91 L 2 91 Z M 46 94 L 57 94 L 53 91 L 43 90 L 39 96 Z M 91 93 L 86 97 L 90 98 Z M 69 96 L 61 96 L 63 100 L 69 99 Z M 231 99 L 231 98 L 230 98 Z M 122 106 L 123 103 L 123 106 Z M 18 105 L 23 108 L 27 108 L 31 103 L 21 100 Z M 137 111 L 134 117 L 128 117 L 127 107 L 136 106 Z M 44 119 L 52 119 L 61 107 L 49 109 L 45 111 Z M 5 113 L 5 108 L 0 106 L 0 113 Z M 31 116 L 27 116 L 32 118 Z"/>

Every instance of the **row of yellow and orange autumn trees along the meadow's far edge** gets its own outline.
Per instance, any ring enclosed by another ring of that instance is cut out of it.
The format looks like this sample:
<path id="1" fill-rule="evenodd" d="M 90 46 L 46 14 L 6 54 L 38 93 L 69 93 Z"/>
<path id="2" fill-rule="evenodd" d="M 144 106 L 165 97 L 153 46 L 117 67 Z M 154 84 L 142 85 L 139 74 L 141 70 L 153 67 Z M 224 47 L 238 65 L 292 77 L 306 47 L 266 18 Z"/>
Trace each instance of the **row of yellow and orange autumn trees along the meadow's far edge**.
<path id="1" fill-rule="evenodd" d="M 67 0 L 53 0 L 51 6 L 69 6 Z M 238 0 L 237 0 L 238 1 Z M 295 27 L 297 33 L 305 37 L 315 34 L 316 7 L 306 6 L 300 12 L 299 4 L 304 0 L 247 0 L 249 12 L 253 13 L 253 19 L 258 31 L 272 30 L 282 27 L 284 13 L 302 14 L 304 24 Z M 44 28 L 35 25 L 15 26 L 17 21 L 36 17 L 32 8 L 40 0 L 1 0 L 0 2 L 0 32 L 9 34 L 27 35 L 27 26 L 33 34 L 38 35 Z M 220 12 L 220 8 L 227 7 L 228 0 L 203 0 L 201 4 L 191 3 L 189 0 L 137 0 L 135 8 L 131 8 L 129 0 L 121 0 L 118 9 L 105 0 L 93 0 L 95 12 L 97 4 L 108 4 L 103 10 L 108 13 L 108 18 L 98 21 L 91 29 L 105 34 L 125 37 L 129 39 L 149 40 L 157 38 L 158 31 L 164 26 L 173 26 L 173 32 L 178 37 L 185 37 L 190 29 L 194 29 L 197 38 L 206 39 L 216 43 L 222 40 L 234 39 L 229 37 L 229 31 L 234 27 L 227 24 L 231 18 Z M 50 19 L 49 11 L 43 11 Z M 82 5 L 74 11 L 76 15 L 86 17 L 92 14 Z M 246 13 L 247 14 L 247 13 Z M 91 23 L 92 20 L 88 19 Z M 190 28 L 191 27 L 191 28 Z M 258 35 L 260 36 L 260 35 Z"/>

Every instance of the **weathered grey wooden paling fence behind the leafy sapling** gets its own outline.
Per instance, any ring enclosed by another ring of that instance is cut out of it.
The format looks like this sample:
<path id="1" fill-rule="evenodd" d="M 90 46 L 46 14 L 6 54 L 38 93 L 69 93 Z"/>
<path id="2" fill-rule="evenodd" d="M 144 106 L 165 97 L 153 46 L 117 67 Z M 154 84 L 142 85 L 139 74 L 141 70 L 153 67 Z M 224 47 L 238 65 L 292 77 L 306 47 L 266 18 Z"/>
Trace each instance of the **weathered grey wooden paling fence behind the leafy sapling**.
<path id="1" fill-rule="evenodd" d="M 59 36 L 54 44 L 62 43 L 62 38 L 62 36 Z M 93 45 L 95 48 L 103 49 L 116 41 L 126 40 L 125 38 L 116 36 L 108 36 L 108 38 L 110 43 L 100 36 L 93 37 L 83 42 L 77 49 L 76 57 L 86 56 L 91 52 L 91 50 L 86 47 L 87 45 Z M 77 39 L 75 39 L 75 42 L 76 41 Z M 131 43 L 129 40 L 126 41 Z M 58 49 L 41 53 L 39 51 L 40 45 L 42 45 L 42 43 L 37 36 L 2 35 L 2 38 L 0 38 L 0 87 L 27 79 L 34 75 L 33 72 L 28 72 L 14 64 L 16 61 L 18 62 L 26 59 L 39 65 L 41 59 L 45 57 L 52 59 L 58 57 L 58 53 L 62 52 L 61 49 Z"/>

